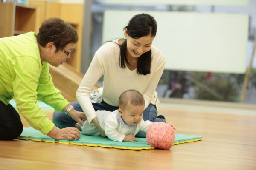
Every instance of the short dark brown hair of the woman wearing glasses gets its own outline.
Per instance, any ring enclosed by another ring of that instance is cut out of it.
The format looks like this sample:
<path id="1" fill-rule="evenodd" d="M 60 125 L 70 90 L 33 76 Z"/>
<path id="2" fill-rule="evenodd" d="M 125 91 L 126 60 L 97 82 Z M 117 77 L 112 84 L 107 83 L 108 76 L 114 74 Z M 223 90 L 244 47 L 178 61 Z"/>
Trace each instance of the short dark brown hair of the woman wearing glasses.
<path id="1" fill-rule="evenodd" d="M 76 43 L 78 35 L 73 26 L 65 23 L 60 18 L 49 18 L 45 20 L 36 35 L 38 44 L 45 47 L 47 43 L 53 42 L 56 51 L 64 49 L 69 43 Z"/>

